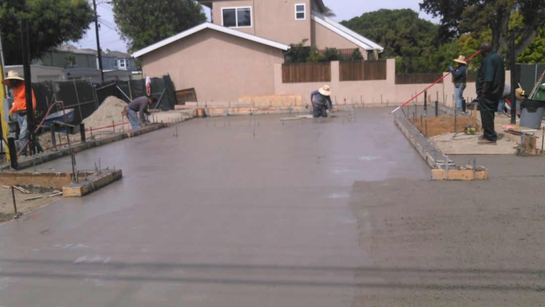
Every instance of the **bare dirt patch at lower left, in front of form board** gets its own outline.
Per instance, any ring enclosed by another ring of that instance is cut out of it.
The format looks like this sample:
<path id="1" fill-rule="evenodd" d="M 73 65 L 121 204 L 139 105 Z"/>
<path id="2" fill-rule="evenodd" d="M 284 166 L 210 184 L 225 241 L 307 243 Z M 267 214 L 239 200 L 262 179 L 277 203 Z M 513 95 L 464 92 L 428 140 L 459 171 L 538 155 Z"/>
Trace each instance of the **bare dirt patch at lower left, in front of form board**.
<path id="1" fill-rule="evenodd" d="M 17 206 L 17 212 L 27 214 L 35 209 L 41 208 L 59 200 L 62 196 L 53 196 L 51 191 L 39 192 L 32 191 L 32 194 L 25 194 L 19 190 L 15 190 L 15 204 Z M 25 198 L 43 196 L 35 200 L 25 200 Z M 13 207 L 13 197 L 11 195 L 11 189 L 0 187 L 0 224 L 9 221 L 15 217 L 15 210 Z"/>

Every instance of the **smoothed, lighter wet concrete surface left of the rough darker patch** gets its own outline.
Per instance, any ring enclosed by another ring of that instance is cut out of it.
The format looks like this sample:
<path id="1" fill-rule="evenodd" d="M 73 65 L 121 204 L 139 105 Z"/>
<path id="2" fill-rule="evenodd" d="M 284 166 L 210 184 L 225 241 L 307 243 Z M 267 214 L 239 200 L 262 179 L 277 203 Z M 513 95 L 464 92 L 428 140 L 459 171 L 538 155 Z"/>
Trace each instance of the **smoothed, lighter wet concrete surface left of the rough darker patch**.
<path id="1" fill-rule="evenodd" d="M 350 306 L 371 262 L 354 182 L 429 178 L 392 109 L 193 119 L 78 153 L 123 179 L 0 226 L 1 304 Z"/>

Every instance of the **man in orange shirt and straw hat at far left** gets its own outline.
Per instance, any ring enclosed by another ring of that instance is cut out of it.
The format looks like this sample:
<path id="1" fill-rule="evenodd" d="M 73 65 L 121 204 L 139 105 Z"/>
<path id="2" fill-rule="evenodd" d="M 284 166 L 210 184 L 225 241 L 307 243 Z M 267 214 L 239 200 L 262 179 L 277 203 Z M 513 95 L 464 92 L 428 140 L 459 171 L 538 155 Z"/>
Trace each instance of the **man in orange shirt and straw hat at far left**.
<path id="1" fill-rule="evenodd" d="M 9 117 L 14 114 L 17 116 L 17 123 L 19 123 L 19 150 L 21 156 L 26 156 L 25 143 L 28 140 L 28 123 L 27 123 L 27 103 L 25 96 L 25 79 L 21 78 L 17 71 L 8 71 L 8 76 L 2 80 L 2 84 L 9 87 L 13 92 L 13 105 L 9 109 Z M 32 109 L 36 112 L 36 98 L 34 97 L 34 91 L 32 91 Z"/>

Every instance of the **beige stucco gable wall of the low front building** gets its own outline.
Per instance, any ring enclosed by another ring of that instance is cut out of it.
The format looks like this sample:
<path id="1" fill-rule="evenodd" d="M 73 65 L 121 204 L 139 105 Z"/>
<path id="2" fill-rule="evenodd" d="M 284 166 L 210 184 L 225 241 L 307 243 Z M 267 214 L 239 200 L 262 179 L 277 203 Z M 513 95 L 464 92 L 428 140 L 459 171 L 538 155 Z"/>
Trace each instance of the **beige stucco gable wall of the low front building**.
<path id="1" fill-rule="evenodd" d="M 175 89 L 195 88 L 198 101 L 237 101 L 275 91 L 282 50 L 204 29 L 142 57 L 143 75 L 169 74 Z"/>

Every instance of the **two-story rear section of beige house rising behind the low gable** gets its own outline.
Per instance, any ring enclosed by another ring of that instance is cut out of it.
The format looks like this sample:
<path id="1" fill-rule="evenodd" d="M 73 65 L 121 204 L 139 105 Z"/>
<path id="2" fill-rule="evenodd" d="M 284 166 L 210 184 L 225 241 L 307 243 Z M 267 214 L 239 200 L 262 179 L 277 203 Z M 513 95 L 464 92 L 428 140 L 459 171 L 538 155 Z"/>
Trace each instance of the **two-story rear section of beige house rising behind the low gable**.
<path id="1" fill-rule="evenodd" d="M 197 0 L 211 9 L 212 23 L 282 44 L 359 48 L 365 59 L 383 47 L 322 15 L 322 0 Z M 274 14 L 271 14 L 274 12 Z"/>

